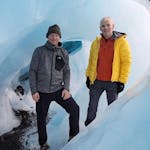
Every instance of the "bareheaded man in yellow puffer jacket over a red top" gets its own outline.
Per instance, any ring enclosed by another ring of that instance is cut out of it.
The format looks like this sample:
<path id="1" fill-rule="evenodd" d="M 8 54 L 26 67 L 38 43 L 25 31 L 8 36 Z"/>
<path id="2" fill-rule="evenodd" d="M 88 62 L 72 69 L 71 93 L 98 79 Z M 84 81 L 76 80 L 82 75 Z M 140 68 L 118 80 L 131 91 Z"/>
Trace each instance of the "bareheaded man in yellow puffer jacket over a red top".
<path id="1" fill-rule="evenodd" d="M 85 125 L 96 117 L 101 94 L 106 91 L 108 105 L 115 101 L 128 81 L 131 66 L 130 47 L 126 34 L 114 31 L 110 17 L 100 21 L 101 36 L 96 37 L 90 49 L 86 70 L 86 85 L 90 92 L 90 101 Z"/>

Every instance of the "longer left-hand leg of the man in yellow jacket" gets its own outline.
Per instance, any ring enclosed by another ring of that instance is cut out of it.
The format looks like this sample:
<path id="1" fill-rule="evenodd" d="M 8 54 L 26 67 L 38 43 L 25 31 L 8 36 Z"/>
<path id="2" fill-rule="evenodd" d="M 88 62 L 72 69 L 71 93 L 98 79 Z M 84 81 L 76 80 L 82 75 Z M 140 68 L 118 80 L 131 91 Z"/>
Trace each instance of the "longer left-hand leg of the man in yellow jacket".
<path id="1" fill-rule="evenodd" d="M 89 96 L 89 106 L 87 112 L 87 119 L 85 121 L 85 125 L 89 125 L 96 117 L 98 102 L 101 94 L 103 93 L 104 89 L 102 87 L 101 81 L 95 81 L 94 85 L 91 85 Z"/>

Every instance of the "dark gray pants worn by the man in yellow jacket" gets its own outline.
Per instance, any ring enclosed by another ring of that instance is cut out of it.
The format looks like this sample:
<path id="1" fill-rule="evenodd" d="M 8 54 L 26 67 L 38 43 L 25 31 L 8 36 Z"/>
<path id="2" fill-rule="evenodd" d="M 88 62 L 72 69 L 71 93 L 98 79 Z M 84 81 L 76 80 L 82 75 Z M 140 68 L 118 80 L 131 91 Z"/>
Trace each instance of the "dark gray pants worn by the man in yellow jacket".
<path id="1" fill-rule="evenodd" d="M 116 83 L 111 81 L 96 80 L 90 87 L 90 101 L 88 106 L 87 119 L 85 121 L 86 126 L 96 118 L 99 98 L 104 91 L 106 91 L 107 94 L 108 105 L 110 105 L 118 97 Z"/>

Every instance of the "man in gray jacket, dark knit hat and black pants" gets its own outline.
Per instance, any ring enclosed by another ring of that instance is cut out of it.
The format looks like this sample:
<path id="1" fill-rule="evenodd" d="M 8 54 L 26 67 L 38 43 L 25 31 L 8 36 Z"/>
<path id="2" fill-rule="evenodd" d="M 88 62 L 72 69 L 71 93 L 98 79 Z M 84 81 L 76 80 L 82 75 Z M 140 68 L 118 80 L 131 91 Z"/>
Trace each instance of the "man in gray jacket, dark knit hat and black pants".
<path id="1" fill-rule="evenodd" d="M 69 56 L 61 47 L 61 32 L 58 25 L 50 26 L 48 41 L 35 49 L 29 70 L 29 82 L 33 100 L 36 102 L 39 144 L 48 149 L 46 116 L 52 101 L 69 113 L 69 139 L 79 132 L 79 106 L 69 92 Z"/>

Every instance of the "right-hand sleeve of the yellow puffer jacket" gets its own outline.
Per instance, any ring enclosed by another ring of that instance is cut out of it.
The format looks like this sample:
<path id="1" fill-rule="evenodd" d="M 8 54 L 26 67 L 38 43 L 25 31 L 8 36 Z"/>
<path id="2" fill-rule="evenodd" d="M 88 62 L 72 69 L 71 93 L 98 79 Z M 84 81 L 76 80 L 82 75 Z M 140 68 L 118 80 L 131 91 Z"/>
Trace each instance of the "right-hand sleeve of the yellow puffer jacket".
<path id="1" fill-rule="evenodd" d="M 127 83 L 131 69 L 131 51 L 126 39 L 120 45 L 120 76 L 119 81 Z"/>

